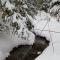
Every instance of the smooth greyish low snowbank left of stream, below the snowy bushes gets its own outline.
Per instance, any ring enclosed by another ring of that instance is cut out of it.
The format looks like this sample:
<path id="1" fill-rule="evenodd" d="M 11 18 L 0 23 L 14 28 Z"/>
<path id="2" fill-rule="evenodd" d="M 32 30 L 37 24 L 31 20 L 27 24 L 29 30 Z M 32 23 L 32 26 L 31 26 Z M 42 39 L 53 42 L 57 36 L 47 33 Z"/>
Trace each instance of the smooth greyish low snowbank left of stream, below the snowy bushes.
<path id="1" fill-rule="evenodd" d="M 14 47 L 18 45 L 32 45 L 34 43 L 35 35 L 32 32 L 25 29 L 24 34 L 26 39 L 18 38 L 17 35 L 11 35 L 11 33 L 0 33 L 0 60 L 4 60 Z"/>

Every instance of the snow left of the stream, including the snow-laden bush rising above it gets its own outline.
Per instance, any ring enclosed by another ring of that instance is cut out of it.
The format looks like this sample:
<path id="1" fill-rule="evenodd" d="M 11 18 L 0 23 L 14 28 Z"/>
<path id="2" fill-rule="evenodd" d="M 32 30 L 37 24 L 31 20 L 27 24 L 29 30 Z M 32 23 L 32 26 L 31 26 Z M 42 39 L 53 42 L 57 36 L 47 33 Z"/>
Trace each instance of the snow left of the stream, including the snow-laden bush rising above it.
<path id="1" fill-rule="evenodd" d="M 16 16 L 19 16 L 19 18 L 17 19 Z M 0 60 L 4 60 L 8 57 L 9 52 L 14 47 L 17 47 L 18 45 L 33 45 L 35 42 L 35 35 L 26 27 L 26 17 L 24 18 L 19 13 L 15 12 L 7 19 L 13 23 L 17 22 L 20 29 L 15 33 L 13 27 L 7 22 L 6 25 L 9 26 L 8 33 L 6 31 L 0 31 Z M 23 35 L 22 32 L 24 33 Z"/>

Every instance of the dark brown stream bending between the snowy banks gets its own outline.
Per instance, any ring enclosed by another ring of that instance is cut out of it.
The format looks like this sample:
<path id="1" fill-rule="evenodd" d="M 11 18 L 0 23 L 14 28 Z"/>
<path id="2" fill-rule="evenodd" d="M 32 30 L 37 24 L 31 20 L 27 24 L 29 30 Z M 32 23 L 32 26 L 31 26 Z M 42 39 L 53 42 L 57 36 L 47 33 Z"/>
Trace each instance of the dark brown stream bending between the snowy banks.
<path id="1" fill-rule="evenodd" d="M 34 60 L 49 45 L 49 41 L 45 37 L 37 35 L 35 39 L 33 45 L 20 45 L 13 48 L 10 56 L 5 60 Z"/>

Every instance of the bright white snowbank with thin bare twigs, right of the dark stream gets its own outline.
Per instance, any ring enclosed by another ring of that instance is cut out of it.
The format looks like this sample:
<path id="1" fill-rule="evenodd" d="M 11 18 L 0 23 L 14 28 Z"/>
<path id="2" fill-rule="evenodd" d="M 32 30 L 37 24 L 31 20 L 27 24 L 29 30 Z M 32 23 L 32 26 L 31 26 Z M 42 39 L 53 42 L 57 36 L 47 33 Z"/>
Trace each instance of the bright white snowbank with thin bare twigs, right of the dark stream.
<path id="1" fill-rule="evenodd" d="M 42 11 L 36 16 L 34 25 L 36 34 L 50 40 L 49 46 L 35 60 L 60 60 L 60 22 Z"/>

